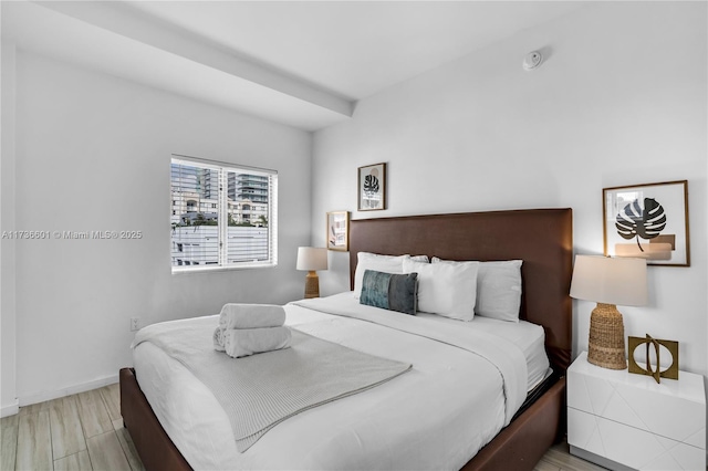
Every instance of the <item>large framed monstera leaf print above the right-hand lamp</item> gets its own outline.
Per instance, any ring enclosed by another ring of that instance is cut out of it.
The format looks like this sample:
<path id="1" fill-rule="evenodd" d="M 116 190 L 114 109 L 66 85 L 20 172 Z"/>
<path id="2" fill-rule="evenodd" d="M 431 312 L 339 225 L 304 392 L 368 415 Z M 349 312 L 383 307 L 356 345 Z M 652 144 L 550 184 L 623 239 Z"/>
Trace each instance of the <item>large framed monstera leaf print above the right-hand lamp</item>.
<path id="1" fill-rule="evenodd" d="M 602 202 L 605 255 L 690 266 L 688 180 L 603 188 Z"/>

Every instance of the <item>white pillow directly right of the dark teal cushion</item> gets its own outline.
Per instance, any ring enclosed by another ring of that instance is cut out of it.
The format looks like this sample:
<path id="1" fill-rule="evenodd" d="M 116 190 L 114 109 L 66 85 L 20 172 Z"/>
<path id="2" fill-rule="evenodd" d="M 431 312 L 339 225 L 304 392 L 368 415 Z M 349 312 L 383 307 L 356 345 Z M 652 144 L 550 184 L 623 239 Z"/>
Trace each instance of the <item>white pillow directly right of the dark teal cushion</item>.
<path id="1" fill-rule="evenodd" d="M 421 263 L 404 260 L 404 273 L 418 273 L 418 311 L 460 321 L 475 317 L 479 263 Z M 470 289 L 471 286 L 471 289 Z"/>

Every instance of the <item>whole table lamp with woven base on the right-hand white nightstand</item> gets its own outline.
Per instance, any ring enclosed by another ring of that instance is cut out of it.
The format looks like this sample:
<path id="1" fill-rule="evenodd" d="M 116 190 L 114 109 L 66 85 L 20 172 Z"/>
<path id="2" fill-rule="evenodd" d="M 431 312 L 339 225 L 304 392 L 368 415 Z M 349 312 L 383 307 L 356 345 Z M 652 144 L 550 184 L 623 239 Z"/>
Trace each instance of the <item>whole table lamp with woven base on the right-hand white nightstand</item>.
<path id="1" fill-rule="evenodd" d="M 624 323 L 617 304 L 646 304 L 646 260 L 576 255 L 571 297 L 597 303 L 590 316 L 587 362 L 603 368 L 625 369 Z"/>

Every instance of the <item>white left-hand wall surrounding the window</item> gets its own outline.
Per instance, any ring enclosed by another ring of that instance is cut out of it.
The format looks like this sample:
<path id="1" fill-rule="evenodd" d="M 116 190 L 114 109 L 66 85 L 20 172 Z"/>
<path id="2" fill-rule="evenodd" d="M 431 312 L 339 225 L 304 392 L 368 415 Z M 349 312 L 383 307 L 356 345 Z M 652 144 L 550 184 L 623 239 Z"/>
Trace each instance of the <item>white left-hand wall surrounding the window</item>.
<path id="1" fill-rule="evenodd" d="M 294 266 L 310 242 L 310 133 L 23 52 L 15 96 L 15 178 L 2 189 L 3 201 L 14 192 L 15 229 L 144 234 L 15 243 L 17 311 L 2 320 L 17 320 L 20 405 L 114 380 L 132 364 L 133 316 L 146 325 L 302 296 Z M 170 273 L 173 153 L 279 171 L 277 268 Z"/>

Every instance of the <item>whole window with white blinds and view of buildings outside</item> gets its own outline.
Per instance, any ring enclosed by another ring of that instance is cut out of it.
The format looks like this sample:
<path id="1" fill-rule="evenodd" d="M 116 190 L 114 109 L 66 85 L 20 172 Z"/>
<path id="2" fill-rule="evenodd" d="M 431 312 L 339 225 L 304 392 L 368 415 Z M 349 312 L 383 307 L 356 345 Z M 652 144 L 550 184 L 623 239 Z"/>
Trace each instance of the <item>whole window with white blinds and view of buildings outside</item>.
<path id="1" fill-rule="evenodd" d="M 278 264 L 277 171 L 174 155 L 170 187 L 173 273 Z"/>

